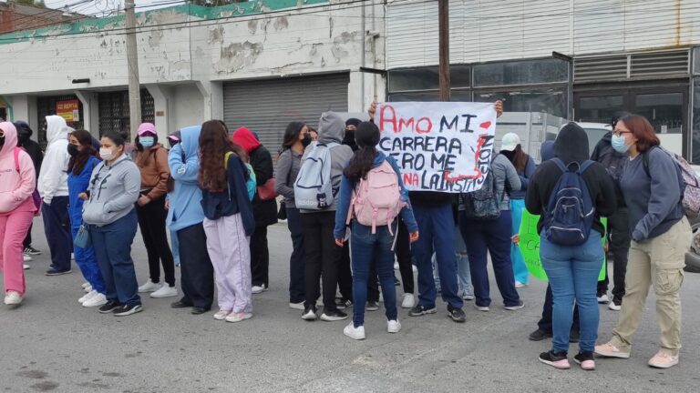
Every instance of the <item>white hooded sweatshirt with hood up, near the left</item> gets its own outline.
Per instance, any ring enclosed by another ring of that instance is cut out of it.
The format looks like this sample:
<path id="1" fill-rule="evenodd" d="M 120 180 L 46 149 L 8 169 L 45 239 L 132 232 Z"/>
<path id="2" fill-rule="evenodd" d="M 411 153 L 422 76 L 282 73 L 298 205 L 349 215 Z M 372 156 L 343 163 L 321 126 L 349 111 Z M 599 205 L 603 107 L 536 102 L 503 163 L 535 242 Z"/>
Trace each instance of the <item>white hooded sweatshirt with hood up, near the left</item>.
<path id="1" fill-rule="evenodd" d="M 44 203 L 51 204 L 54 196 L 68 195 L 68 127 L 61 116 L 46 116 L 46 155 L 36 187 Z"/>

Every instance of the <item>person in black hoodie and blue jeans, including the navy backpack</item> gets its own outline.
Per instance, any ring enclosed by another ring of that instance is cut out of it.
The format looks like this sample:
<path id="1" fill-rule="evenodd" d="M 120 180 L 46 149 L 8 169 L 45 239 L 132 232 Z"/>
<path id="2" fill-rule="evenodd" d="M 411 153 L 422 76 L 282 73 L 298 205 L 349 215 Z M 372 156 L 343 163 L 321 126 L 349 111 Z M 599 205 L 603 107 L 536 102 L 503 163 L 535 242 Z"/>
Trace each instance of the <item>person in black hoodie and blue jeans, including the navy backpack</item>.
<path id="1" fill-rule="evenodd" d="M 554 368 L 570 368 L 567 354 L 575 301 L 581 319 L 581 341 L 574 359 L 583 369 L 594 369 L 599 319 L 595 295 L 604 260 L 601 237 L 605 229 L 600 217 L 614 213 L 615 189 L 605 168 L 588 159 L 588 136 L 581 126 L 563 126 L 554 142 L 554 152 L 556 157 L 542 163 L 530 178 L 525 197 L 528 211 L 541 215 L 537 226 L 540 257 L 554 300 L 552 348 L 540 354 L 540 361 Z M 563 219 L 562 212 L 563 218 L 573 220 Z M 569 237 L 571 233 L 576 237 Z"/>

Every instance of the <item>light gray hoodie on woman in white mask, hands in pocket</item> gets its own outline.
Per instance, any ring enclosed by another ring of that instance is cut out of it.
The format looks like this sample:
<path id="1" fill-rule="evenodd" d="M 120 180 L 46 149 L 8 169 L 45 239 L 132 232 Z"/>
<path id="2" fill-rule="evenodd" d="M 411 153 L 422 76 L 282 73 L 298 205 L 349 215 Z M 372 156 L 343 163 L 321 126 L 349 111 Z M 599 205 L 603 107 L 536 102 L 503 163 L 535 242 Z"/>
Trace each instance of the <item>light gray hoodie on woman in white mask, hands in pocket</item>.
<path id="1" fill-rule="evenodd" d="M 128 215 L 139 199 L 141 174 L 126 153 L 111 165 L 102 162 L 92 171 L 90 196 L 83 205 L 83 221 L 103 227 Z"/>

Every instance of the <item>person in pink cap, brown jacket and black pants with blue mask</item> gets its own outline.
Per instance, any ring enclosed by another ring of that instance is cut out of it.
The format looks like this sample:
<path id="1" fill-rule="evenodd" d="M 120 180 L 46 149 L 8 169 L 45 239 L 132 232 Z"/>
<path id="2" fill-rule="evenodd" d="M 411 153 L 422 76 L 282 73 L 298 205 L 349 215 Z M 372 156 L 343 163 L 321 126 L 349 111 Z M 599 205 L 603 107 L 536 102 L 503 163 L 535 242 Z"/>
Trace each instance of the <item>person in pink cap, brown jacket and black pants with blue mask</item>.
<path id="1" fill-rule="evenodd" d="M 136 204 L 141 237 L 149 257 L 149 281 L 139 287 L 140 293 L 150 292 L 150 297 L 176 297 L 175 261 L 170 251 L 165 220 L 165 197 L 168 193 L 168 151 L 158 143 L 156 126 L 142 123 L 136 137 L 136 165 L 141 173 L 141 189 Z M 160 264 L 165 283 L 160 283 Z"/>

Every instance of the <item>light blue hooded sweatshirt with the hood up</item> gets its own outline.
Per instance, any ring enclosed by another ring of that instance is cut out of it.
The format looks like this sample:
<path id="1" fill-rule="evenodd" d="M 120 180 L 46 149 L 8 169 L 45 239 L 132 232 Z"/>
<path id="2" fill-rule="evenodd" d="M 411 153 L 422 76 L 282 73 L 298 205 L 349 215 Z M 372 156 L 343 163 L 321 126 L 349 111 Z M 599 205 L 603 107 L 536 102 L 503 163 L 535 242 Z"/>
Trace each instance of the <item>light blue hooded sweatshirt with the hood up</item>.
<path id="1" fill-rule="evenodd" d="M 168 154 L 170 176 L 175 180 L 175 189 L 170 193 L 170 209 L 166 222 L 173 231 L 204 221 L 201 189 L 197 181 L 200 172 L 200 132 L 201 126 L 182 128 L 180 143 L 172 146 Z"/>

